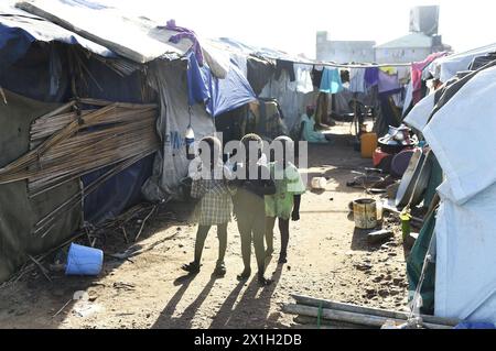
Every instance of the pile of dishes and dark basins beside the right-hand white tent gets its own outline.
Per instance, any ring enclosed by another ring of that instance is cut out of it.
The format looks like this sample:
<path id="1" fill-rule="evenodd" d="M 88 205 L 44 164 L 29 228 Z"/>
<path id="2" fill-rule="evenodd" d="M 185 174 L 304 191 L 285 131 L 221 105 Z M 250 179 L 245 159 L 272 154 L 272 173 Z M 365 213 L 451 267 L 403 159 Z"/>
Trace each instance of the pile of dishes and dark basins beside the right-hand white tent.
<path id="1" fill-rule="evenodd" d="M 405 124 L 389 125 L 388 133 L 380 138 L 378 143 L 373 156 L 374 167 L 401 178 L 418 144 L 417 136 L 411 136 L 410 129 Z"/>

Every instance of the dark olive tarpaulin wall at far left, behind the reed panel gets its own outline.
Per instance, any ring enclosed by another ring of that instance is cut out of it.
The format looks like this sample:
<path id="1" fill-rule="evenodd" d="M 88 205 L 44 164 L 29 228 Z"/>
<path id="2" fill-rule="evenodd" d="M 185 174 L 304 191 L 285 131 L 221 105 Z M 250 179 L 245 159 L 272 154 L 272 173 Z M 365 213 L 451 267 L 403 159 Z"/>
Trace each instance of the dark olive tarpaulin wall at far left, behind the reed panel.
<path id="1" fill-rule="evenodd" d="M 0 167 L 29 151 L 31 122 L 60 106 L 29 99 L 7 89 L 3 94 L 4 100 L 0 99 Z M 79 228 L 83 220 L 80 205 L 67 211 L 44 238 L 33 234 L 41 218 L 78 193 L 78 180 L 65 183 L 34 198 L 29 196 L 25 180 L 0 184 L 0 282 L 29 261 L 29 255 L 45 253 Z"/>

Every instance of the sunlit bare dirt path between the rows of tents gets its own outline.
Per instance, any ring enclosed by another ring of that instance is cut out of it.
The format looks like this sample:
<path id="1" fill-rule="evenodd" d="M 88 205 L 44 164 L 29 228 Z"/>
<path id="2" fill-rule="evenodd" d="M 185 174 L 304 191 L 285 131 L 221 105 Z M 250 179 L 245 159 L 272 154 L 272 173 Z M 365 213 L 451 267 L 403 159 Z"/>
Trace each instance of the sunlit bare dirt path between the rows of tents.
<path id="1" fill-rule="evenodd" d="M 351 146 L 348 125 L 336 128 L 333 145 L 312 145 L 309 168 L 302 172 L 328 178 L 325 191 L 303 196 L 301 220 L 291 222 L 289 263 L 268 264 L 274 283 L 259 287 L 255 276 L 246 284 L 241 272 L 240 239 L 229 224 L 227 275 L 214 278 L 217 238 L 207 239 L 202 272 L 187 277 L 181 265 L 192 261 L 195 226 L 187 223 L 182 204 L 169 205 L 176 215 L 151 218 L 130 260 L 106 256 L 98 277 L 52 274 L 52 283 L 34 273 L 0 289 L 0 328 L 291 328 L 293 317 L 282 311 L 290 294 L 402 310 L 407 307 L 403 248 L 399 233 L 387 244 L 369 245 L 366 232 L 347 219 L 348 202 L 363 197 L 346 186 L 352 171 L 370 167 Z M 137 230 L 130 228 L 129 232 Z M 276 246 L 279 245 L 276 232 Z M 108 242 L 112 241 L 111 244 Z M 109 233 L 106 253 L 129 246 Z M 255 271 L 255 257 L 252 259 Z M 74 301 L 86 292 L 87 301 Z"/>

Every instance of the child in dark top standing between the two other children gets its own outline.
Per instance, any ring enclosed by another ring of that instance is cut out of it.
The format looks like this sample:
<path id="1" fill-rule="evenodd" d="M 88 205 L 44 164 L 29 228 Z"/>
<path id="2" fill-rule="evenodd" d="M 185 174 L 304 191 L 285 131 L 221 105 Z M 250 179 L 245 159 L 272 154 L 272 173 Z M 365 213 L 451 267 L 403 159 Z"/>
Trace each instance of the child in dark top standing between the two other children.
<path id="1" fill-rule="evenodd" d="M 276 186 L 270 178 L 267 166 L 258 161 L 261 157 L 262 140 L 257 134 L 247 134 L 241 139 L 246 151 L 242 165 L 237 166 L 236 173 L 242 174 L 242 179 L 237 179 L 237 193 L 234 198 L 235 213 L 238 221 L 238 230 L 241 237 L 241 255 L 245 270 L 238 275 L 238 279 L 246 281 L 251 275 L 251 243 L 255 246 L 255 255 L 258 266 L 258 282 L 266 286 L 271 284 L 265 277 L 265 220 L 266 209 L 263 196 L 276 193 Z M 257 153 L 257 154 L 255 154 Z M 256 174 L 249 171 L 254 169 Z"/>

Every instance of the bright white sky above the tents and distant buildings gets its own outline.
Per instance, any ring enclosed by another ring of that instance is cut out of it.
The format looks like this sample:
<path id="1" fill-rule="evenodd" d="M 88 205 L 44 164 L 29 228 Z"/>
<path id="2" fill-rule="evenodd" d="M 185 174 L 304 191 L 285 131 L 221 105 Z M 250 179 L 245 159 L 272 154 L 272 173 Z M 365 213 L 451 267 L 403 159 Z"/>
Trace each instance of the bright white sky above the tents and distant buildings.
<path id="1" fill-rule="evenodd" d="M 106 0 L 137 14 L 249 45 L 315 56 L 315 33 L 378 44 L 408 34 L 410 9 L 439 4 L 443 42 L 457 52 L 496 43 L 494 0 Z"/>

